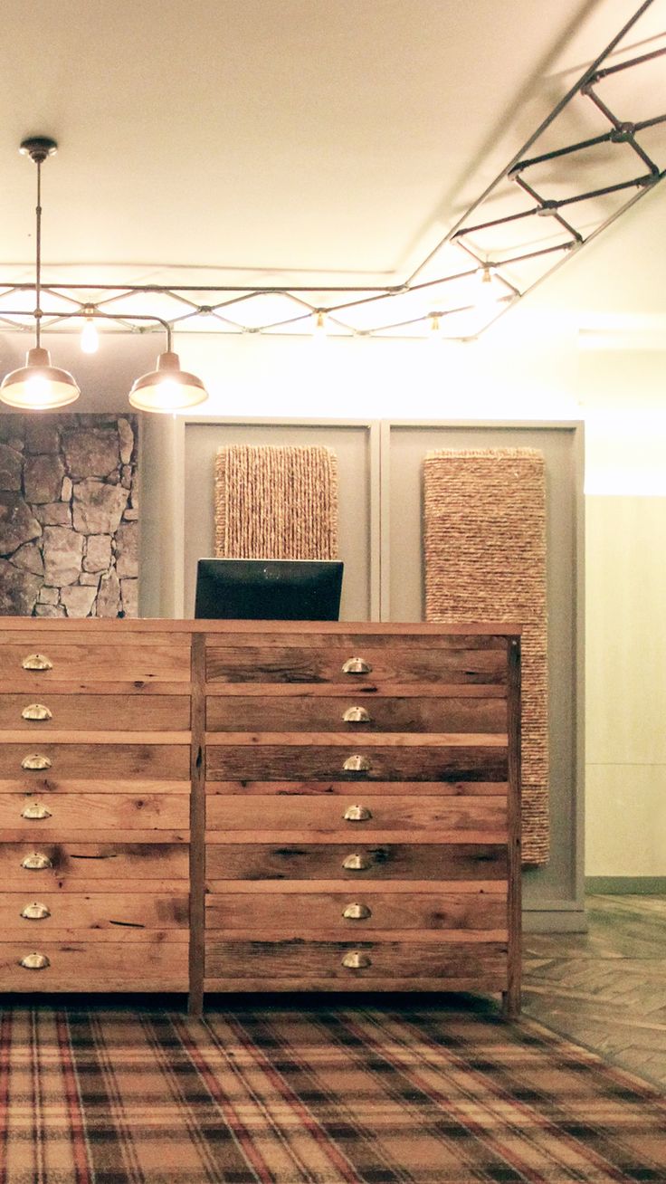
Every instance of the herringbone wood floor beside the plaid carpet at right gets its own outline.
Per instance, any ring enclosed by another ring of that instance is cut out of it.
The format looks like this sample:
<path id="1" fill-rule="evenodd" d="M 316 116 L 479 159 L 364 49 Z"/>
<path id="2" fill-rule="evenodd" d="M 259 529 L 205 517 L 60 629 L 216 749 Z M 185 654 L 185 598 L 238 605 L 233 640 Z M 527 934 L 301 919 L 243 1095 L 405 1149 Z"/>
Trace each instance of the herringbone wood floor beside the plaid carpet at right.
<path id="1" fill-rule="evenodd" d="M 666 896 L 589 896 L 588 933 L 524 938 L 523 1010 L 666 1087 Z"/>

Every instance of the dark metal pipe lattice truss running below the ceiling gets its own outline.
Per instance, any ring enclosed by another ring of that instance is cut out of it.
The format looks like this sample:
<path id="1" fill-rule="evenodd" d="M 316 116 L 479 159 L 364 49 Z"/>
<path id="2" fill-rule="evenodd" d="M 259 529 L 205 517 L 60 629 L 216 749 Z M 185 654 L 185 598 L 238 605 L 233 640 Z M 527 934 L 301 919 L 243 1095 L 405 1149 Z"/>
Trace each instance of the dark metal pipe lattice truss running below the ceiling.
<path id="1" fill-rule="evenodd" d="M 232 334 L 309 333 L 325 317 L 329 332 L 343 336 L 418 336 L 435 324 L 452 340 L 478 336 L 664 179 L 666 130 L 657 150 L 648 150 L 646 140 L 652 144 L 666 115 L 632 120 L 631 111 L 615 109 L 617 103 L 623 108 L 621 96 L 612 102 L 600 94 L 619 77 L 640 82 L 666 54 L 664 47 L 604 64 L 622 52 L 622 40 L 652 2 L 641 4 L 506 168 L 402 282 L 362 288 L 51 283 L 43 284 L 43 295 L 60 309 L 41 310 L 41 330 L 85 315 L 98 316 L 106 329 L 112 326 L 119 333 L 203 327 Z M 641 85 L 644 101 L 646 91 L 649 85 Z M 578 120 L 594 110 L 595 126 L 601 117 L 607 130 L 529 155 L 574 105 Z M 594 176 L 594 184 L 581 185 L 586 175 Z M 499 213 L 484 218 L 484 210 L 493 207 Z M 479 298 L 484 285 L 491 289 L 490 302 Z M 34 284 L 0 282 L 0 324 L 33 327 L 33 311 L 4 307 L 26 291 L 34 291 Z M 161 315 L 146 308 L 132 314 L 128 304 L 151 295 L 162 298 Z M 164 315 L 164 297 L 173 303 L 172 314 Z"/>

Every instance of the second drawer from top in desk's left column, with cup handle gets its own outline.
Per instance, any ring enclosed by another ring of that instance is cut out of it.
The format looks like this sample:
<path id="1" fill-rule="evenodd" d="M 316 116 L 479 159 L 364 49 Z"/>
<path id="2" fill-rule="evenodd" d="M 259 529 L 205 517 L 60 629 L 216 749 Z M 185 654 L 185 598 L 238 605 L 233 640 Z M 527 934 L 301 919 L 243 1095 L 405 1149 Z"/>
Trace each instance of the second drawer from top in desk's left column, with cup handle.
<path id="1" fill-rule="evenodd" d="M 25 720 L 33 703 L 51 712 L 49 720 Z M 92 716 L 92 718 L 91 718 Z M 58 729 L 72 732 L 179 732 L 189 729 L 189 695 L 59 695 L 41 688 L 37 699 L 24 694 L 0 695 L 0 729 L 27 729 L 40 736 Z"/>

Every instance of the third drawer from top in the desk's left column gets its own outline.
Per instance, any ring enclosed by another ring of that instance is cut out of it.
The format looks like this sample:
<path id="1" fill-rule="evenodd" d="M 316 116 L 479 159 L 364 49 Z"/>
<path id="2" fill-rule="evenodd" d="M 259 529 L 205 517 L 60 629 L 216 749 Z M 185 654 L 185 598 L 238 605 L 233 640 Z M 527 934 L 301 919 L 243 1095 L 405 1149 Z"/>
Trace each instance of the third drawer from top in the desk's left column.
<path id="1" fill-rule="evenodd" d="M 182 733 L 181 733 L 182 738 Z M 24 770 L 26 757 L 38 754 L 51 761 L 50 778 L 96 777 L 108 780 L 122 777 L 182 780 L 189 773 L 189 745 L 164 744 L 52 744 L 31 736 L 32 742 L 0 746 L 0 777 L 19 778 L 26 790 L 40 778 L 43 770 Z M 50 779 L 49 778 L 49 779 Z"/>

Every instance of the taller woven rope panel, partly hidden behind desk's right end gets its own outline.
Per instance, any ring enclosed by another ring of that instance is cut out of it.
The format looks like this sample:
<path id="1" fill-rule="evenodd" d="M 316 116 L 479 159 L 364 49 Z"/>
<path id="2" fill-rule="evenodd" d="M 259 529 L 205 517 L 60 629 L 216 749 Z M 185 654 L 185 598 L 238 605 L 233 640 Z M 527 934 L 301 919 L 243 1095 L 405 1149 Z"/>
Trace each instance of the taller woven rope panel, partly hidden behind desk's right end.
<path id="1" fill-rule="evenodd" d="M 523 625 L 523 861 L 548 860 L 545 465 L 536 449 L 428 452 L 426 619 Z"/>

